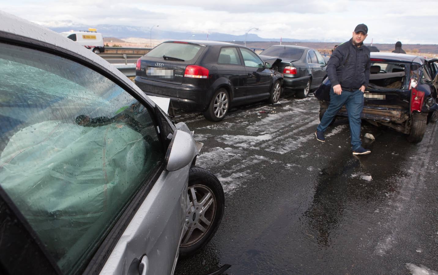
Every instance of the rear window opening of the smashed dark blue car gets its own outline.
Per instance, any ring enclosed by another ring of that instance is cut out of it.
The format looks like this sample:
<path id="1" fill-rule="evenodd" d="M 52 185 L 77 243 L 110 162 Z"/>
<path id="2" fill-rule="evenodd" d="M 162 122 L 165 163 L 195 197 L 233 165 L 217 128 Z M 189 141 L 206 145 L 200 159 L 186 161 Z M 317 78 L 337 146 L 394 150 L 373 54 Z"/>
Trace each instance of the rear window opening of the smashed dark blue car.
<path id="1" fill-rule="evenodd" d="M 371 59 L 371 62 L 373 60 Z M 368 88 L 403 89 L 406 88 L 407 66 L 405 63 L 371 63 Z"/>

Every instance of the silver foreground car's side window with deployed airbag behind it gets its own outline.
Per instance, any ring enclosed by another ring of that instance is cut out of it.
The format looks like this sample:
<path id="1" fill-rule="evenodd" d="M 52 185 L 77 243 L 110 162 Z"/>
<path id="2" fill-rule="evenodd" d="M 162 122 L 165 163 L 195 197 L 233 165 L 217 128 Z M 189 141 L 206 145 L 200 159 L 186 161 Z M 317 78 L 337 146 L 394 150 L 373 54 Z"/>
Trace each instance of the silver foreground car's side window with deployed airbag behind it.
<path id="1" fill-rule="evenodd" d="M 164 159 L 152 113 L 74 61 L 0 44 L 0 185 L 63 273 L 81 270 Z"/>

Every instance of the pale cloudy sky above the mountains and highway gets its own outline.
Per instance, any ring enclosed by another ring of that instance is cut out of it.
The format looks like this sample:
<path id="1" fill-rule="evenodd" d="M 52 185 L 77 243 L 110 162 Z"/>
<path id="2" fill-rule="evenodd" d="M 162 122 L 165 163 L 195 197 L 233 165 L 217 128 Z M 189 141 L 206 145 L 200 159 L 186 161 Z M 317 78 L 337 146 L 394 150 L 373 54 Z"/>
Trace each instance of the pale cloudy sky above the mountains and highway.
<path id="1" fill-rule="evenodd" d="M 189 2 L 190 4 L 187 4 Z M 438 44 L 438 0 L 0 0 L 0 10 L 46 26 L 150 27 L 262 38 L 345 41 L 357 24 L 370 43 Z"/>

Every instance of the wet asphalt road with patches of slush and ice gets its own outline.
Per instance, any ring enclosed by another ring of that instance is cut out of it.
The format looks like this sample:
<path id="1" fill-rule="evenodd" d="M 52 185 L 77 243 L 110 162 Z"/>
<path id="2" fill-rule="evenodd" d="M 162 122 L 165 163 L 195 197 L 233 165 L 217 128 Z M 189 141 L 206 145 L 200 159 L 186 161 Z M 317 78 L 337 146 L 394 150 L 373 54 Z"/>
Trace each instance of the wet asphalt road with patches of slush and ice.
<path id="1" fill-rule="evenodd" d="M 219 123 L 182 113 L 226 208 L 211 242 L 175 274 L 231 264 L 224 274 L 438 275 L 437 123 L 414 145 L 364 122 L 362 137 L 376 140 L 356 157 L 347 120 L 316 141 L 318 110 L 311 95 L 233 109 Z"/>

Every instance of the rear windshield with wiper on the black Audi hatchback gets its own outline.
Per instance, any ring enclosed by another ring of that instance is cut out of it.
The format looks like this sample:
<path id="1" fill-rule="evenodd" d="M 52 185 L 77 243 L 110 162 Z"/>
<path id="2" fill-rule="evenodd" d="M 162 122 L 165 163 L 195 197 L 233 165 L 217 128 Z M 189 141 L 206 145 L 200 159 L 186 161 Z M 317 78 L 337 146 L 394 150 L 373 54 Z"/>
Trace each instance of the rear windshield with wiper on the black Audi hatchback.
<path id="1" fill-rule="evenodd" d="M 165 55 L 188 61 L 193 60 L 203 48 L 204 46 L 194 44 L 164 42 L 151 49 L 145 56 L 163 57 Z"/>

